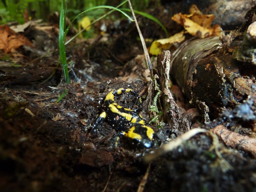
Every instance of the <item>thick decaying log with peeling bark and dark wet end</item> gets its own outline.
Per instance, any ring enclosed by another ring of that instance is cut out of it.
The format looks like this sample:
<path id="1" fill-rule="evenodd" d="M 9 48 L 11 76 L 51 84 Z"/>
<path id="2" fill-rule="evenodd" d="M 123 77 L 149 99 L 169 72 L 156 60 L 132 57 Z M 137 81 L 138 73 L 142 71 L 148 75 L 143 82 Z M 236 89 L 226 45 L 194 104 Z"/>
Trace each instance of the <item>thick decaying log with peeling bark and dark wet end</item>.
<path id="1" fill-rule="evenodd" d="M 244 66 L 231 55 L 223 55 L 219 37 L 186 41 L 171 55 L 171 76 L 189 100 L 205 102 L 210 117 L 234 108 L 248 95 L 255 102 L 256 67 Z"/>

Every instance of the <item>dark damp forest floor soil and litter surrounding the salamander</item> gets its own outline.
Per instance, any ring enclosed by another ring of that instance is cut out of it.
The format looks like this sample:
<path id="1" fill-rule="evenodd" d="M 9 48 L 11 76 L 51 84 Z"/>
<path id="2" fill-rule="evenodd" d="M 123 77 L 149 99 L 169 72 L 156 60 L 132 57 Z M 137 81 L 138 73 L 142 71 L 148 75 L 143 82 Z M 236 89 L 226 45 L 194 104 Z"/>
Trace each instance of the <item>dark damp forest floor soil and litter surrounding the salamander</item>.
<path id="1" fill-rule="evenodd" d="M 21 46 L 0 61 L 1 191 L 256 191 L 255 159 L 213 134 L 199 134 L 149 164 L 144 156 L 159 146 L 134 148 L 125 137 L 117 142 L 108 122 L 96 136 L 89 134 L 108 92 L 131 88 L 146 99 L 150 73 L 142 45 L 134 26 L 123 35 L 71 42 L 71 83 L 65 84 L 56 68 L 57 31 L 30 27 L 34 48 Z M 36 59 L 38 50 L 53 52 Z M 124 95 L 118 103 L 133 100 Z M 166 126 L 149 126 L 170 136 Z"/>

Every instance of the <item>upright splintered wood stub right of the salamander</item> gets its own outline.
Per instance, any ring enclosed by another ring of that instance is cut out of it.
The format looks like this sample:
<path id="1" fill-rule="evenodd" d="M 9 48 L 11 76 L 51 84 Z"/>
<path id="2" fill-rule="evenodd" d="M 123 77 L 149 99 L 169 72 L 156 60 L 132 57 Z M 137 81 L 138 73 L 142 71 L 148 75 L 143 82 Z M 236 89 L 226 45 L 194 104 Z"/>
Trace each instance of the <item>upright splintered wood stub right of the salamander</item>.
<path id="1" fill-rule="evenodd" d="M 163 101 L 163 117 L 167 120 L 173 133 L 179 135 L 178 120 L 179 120 L 179 107 L 173 100 L 172 94 L 168 88 L 169 71 L 170 71 L 170 51 L 163 51 L 161 55 L 157 56 L 157 69 L 162 91 Z"/>

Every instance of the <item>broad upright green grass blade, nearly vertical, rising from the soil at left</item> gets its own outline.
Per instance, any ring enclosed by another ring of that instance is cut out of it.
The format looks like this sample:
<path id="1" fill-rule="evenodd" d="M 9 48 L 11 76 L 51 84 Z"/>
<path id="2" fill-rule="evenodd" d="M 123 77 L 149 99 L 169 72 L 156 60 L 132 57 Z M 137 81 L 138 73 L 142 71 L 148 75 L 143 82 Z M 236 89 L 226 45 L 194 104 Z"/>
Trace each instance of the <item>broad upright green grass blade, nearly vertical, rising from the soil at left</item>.
<path id="1" fill-rule="evenodd" d="M 65 18 L 64 18 L 64 9 L 63 9 L 63 1 L 61 1 L 61 10 L 60 10 L 60 34 L 59 34 L 59 49 L 60 49 L 60 60 L 64 72 L 64 76 L 66 79 L 66 83 L 69 84 L 69 76 L 68 76 L 68 63 L 66 58 L 66 51 L 65 51 L 65 34 L 64 34 L 64 27 L 65 27 Z"/>

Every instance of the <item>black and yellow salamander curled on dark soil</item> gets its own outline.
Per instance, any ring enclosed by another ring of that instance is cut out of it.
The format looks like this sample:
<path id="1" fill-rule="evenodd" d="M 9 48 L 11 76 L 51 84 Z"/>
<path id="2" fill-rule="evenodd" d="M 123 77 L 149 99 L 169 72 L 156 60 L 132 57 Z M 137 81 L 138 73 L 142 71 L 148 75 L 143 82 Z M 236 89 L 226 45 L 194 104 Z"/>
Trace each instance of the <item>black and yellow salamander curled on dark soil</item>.
<path id="1" fill-rule="evenodd" d="M 135 110 L 123 108 L 117 105 L 114 98 L 122 93 L 132 93 L 139 101 L 141 107 L 142 101 L 140 96 L 132 89 L 120 88 L 107 94 L 104 101 L 104 111 L 92 125 L 91 132 L 96 131 L 97 127 L 107 119 L 116 131 L 121 132 L 125 137 L 132 140 L 132 144 L 137 147 L 150 148 L 153 145 L 154 130 L 145 125 L 142 116 Z"/>

